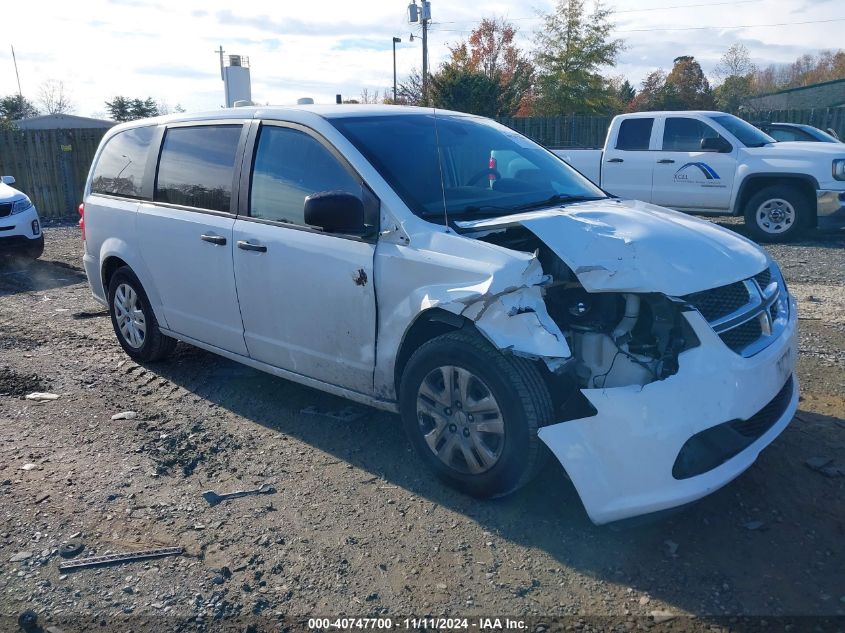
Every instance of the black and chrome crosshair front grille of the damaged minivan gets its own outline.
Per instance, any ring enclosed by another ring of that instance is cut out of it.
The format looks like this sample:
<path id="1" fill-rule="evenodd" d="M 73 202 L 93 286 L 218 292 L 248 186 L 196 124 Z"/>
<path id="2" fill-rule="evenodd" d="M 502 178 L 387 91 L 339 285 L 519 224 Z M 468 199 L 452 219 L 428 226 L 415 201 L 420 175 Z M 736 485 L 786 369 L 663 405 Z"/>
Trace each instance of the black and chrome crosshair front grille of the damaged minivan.
<path id="1" fill-rule="evenodd" d="M 745 357 L 768 347 L 789 319 L 786 288 L 771 268 L 683 299 L 707 319 L 725 345 Z"/>

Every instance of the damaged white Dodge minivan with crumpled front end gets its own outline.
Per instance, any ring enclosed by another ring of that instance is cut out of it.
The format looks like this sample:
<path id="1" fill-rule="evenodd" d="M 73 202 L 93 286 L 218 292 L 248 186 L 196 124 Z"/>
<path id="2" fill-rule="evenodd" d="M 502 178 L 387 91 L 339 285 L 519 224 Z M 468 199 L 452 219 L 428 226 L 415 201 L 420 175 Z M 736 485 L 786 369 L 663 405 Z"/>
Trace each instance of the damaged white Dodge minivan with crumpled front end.
<path id="1" fill-rule="evenodd" d="M 763 250 L 608 196 L 488 119 L 135 121 L 103 138 L 80 213 L 131 357 L 180 340 L 398 412 L 421 461 L 479 497 L 553 454 L 596 523 L 679 506 L 797 406 L 795 303 Z"/>

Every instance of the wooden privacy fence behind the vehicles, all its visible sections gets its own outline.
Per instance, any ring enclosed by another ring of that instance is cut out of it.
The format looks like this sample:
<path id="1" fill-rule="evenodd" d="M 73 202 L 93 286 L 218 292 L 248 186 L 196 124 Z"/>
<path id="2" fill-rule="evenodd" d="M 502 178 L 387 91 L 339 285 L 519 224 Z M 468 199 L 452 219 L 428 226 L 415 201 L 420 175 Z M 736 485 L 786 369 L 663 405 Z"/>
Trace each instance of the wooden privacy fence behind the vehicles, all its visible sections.
<path id="1" fill-rule="evenodd" d="M 744 113 L 752 122 L 807 123 L 836 130 L 845 138 L 845 108 L 757 111 Z M 613 117 L 566 115 L 509 117 L 504 125 L 552 148 L 601 147 Z M 88 168 L 106 130 L 0 131 L 0 175 L 17 179 L 16 188 L 30 196 L 44 218 L 72 217 L 81 201 Z"/>

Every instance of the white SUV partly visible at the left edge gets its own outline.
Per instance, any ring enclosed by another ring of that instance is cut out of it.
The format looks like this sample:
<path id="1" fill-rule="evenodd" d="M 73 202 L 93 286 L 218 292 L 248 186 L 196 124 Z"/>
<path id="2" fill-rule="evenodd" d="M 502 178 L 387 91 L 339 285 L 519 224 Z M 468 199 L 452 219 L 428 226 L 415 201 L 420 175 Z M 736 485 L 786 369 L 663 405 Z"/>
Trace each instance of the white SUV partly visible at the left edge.
<path id="1" fill-rule="evenodd" d="M 44 252 L 41 221 L 32 201 L 10 185 L 14 176 L 0 177 L 0 257 L 38 259 Z"/>

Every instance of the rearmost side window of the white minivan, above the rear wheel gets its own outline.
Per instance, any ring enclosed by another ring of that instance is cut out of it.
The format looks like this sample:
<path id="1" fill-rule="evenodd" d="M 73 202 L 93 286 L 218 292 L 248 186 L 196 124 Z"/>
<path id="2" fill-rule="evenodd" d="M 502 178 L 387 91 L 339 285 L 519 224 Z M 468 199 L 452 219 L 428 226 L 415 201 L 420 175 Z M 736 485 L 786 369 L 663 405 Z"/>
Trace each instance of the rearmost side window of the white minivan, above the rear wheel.
<path id="1" fill-rule="evenodd" d="M 91 191 L 140 198 L 154 131 L 154 126 L 137 127 L 112 136 L 94 167 Z"/>

